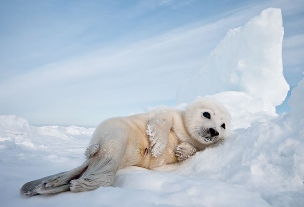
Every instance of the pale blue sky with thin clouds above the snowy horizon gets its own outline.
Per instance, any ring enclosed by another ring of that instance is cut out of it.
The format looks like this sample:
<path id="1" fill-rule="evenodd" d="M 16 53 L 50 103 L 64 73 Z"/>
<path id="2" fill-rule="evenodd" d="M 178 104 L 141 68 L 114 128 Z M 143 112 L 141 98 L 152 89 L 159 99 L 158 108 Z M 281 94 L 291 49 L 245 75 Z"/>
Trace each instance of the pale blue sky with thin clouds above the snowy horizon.
<path id="1" fill-rule="evenodd" d="M 303 1 L 0 0 L 0 114 L 87 126 L 173 106 L 226 32 L 268 7 L 282 10 L 292 89 L 304 76 Z"/>

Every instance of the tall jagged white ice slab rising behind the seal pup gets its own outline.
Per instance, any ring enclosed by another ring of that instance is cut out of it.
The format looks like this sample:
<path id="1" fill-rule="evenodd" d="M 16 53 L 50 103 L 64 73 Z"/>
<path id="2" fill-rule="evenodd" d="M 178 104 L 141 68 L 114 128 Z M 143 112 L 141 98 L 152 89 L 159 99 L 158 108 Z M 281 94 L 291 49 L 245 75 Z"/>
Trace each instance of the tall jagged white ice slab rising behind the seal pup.
<path id="1" fill-rule="evenodd" d="M 283 34 L 281 10 L 274 8 L 230 30 L 203 67 L 180 86 L 177 101 L 241 91 L 258 99 L 259 111 L 275 112 L 289 90 L 283 76 Z"/>

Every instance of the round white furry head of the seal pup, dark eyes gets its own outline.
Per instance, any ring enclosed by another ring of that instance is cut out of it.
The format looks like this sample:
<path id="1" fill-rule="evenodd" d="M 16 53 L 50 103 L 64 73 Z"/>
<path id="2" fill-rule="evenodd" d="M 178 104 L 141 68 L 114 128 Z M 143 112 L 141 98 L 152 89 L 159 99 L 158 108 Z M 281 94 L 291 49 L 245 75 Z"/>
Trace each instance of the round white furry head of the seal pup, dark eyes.
<path id="1" fill-rule="evenodd" d="M 221 103 L 210 97 L 190 103 L 183 118 L 191 138 L 204 145 L 223 141 L 230 130 L 229 112 Z"/>

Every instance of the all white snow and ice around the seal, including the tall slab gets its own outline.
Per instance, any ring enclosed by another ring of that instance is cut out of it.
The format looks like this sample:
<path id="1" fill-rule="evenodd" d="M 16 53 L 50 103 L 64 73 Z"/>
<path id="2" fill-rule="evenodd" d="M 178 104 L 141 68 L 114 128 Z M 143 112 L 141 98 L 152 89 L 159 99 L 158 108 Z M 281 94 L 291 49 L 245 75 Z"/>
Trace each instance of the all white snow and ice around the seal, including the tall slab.
<path id="1" fill-rule="evenodd" d="M 264 33 L 260 27 L 264 28 Z M 282 35 L 280 10 L 263 11 L 243 27 L 231 30 L 211 53 L 210 66 L 226 65 L 227 68 L 215 67 L 214 71 L 197 73 L 183 85 L 184 91 L 187 89 L 191 93 L 189 97 L 179 90 L 178 94 L 185 101 L 196 95 L 214 94 L 213 97 L 229 109 L 232 132 L 222 145 L 197 152 L 184 162 L 154 170 L 121 169 L 111 187 L 82 193 L 20 196 L 19 189 L 25 182 L 81 165 L 94 129 L 34 127 L 23 118 L 0 115 L 0 205 L 302 206 L 304 79 L 291 92 L 291 112 L 277 115 L 273 111 L 288 90 L 281 74 L 281 56 L 276 54 L 281 51 Z M 256 38 L 254 44 L 258 51 L 250 44 L 249 37 Z M 229 46 L 235 48 L 234 51 L 241 49 L 242 42 L 248 51 L 240 50 L 238 57 L 229 56 L 232 53 L 225 49 Z M 268 45 L 269 53 L 266 47 L 261 50 L 262 45 Z M 227 63 L 227 57 L 235 62 L 241 56 L 244 62 L 240 66 L 244 68 L 229 68 L 233 64 Z M 267 71 L 260 70 L 261 67 L 266 67 Z M 212 81 L 204 77 L 218 77 L 220 71 L 227 71 L 228 75 L 225 74 L 214 90 L 192 90 L 198 84 L 194 80 L 211 84 Z M 248 79 L 249 76 L 252 79 Z M 231 79 L 225 79 L 227 77 L 234 77 L 234 84 L 229 82 Z M 248 86 L 253 85 L 256 90 L 249 90 Z M 224 88 L 236 91 L 223 91 Z"/>

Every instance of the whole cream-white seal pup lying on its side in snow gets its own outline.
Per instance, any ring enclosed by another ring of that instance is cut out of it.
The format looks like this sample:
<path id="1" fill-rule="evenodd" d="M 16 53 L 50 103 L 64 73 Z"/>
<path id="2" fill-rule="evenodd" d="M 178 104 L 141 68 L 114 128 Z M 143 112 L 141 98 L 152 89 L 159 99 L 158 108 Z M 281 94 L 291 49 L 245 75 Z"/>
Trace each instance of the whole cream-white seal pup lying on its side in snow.
<path id="1" fill-rule="evenodd" d="M 93 133 L 81 166 L 22 186 L 25 196 L 64 191 L 82 192 L 110 186 L 118 169 L 147 169 L 183 161 L 221 143 L 230 114 L 212 98 L 200 98 L 185 110 L 170 107 L 102 122 Z"/>

